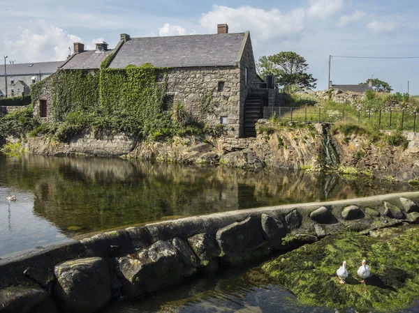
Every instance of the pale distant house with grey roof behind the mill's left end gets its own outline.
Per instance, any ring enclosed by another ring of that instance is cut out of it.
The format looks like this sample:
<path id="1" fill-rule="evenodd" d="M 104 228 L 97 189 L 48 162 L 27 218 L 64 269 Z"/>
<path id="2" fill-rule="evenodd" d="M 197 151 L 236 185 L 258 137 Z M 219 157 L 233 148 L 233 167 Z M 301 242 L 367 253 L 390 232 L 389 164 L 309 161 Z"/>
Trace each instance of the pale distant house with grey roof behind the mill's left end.
<path id="1" fill-rule="evenodd" d="M 62 63 L 63 61 L 6 65 L 6 75 L 3 70 L 0 71 L 3 72 L 0 75 L 0 97 L 29 95 L 31 84 L 54 74 Z"/>

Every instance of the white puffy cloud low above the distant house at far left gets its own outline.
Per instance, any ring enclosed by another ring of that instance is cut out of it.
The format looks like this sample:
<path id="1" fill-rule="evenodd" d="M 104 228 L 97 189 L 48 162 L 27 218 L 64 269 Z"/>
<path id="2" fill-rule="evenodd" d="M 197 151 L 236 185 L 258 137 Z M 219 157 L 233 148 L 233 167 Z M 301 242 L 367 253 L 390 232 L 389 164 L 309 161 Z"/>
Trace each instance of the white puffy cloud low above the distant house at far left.
<path id="1" fill-rule="evenodd" d="M 32 29 L 20 27 L 17 39 L 3 40 L 9 56 L 16 59 L 17 63 L 65 60 L 68 47 L 82 41 L 80 37 L 42 20 L 35 23 Z"/>

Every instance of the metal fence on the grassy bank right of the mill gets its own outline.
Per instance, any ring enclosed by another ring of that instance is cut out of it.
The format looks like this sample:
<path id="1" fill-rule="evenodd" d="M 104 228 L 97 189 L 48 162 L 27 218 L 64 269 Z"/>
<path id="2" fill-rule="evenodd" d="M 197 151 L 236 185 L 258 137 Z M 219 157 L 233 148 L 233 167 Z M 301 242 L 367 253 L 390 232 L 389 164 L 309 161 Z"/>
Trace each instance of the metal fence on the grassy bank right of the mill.
<path id="1" fill-rule="evenodd" d="M 280 121 L 337 123 L 352 121 L 375 125 L 382 130 L 413 130 L 416 132 L 416 112 L 407 110 L 322 109 L 321 107 L 265 107 L 264 119 L 276 113 Z"/>

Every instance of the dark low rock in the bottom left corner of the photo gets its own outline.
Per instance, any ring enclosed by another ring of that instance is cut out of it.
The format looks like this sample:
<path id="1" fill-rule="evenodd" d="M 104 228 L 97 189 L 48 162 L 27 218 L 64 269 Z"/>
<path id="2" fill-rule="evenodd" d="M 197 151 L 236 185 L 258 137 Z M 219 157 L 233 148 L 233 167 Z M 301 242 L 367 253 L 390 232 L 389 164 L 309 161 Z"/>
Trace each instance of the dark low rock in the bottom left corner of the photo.
<path id="1" fill-rule="evenodd" d="M 0 290 L 1 313 L 56 312 L 50 295 L 39 287 L 8 287 Z"/>

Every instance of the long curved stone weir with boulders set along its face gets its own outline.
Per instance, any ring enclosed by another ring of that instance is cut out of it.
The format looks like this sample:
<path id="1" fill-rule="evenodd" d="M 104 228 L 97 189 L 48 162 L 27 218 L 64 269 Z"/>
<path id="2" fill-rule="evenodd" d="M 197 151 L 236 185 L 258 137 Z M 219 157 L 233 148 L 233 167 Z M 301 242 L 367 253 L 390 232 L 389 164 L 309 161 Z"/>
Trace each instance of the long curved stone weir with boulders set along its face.
<path id="1" fill-rule="evenodd" d="M 128 227 L 0 260 L 0 312 L 95 312 L 330 234 L 419 223 L 419 192 L 215 213 Z"/>

